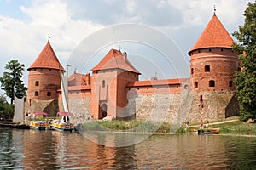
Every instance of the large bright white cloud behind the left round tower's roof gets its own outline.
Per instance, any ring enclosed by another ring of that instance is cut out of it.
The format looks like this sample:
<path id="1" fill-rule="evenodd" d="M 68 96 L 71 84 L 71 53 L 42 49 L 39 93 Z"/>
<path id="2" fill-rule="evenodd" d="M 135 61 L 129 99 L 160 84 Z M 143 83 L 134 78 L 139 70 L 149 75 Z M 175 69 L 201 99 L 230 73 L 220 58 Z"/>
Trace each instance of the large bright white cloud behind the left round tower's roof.
<path id="1" fill-rule="evenodd" d="M 62 65 L 65 65 L 73 48 L 102 28 L 90 20 L 72 20 L 72 13 L 61 1 L 35 1 L 29 7 L 20 7 L 27 15 L 26 20 L 18 20 L 0 15 L 0 74 L 11 59 L 18 59 L 26 69 L 44 48 L 50 35 L 50 42 Z M 28 72 L 24 72 L 27 83 Z"/>

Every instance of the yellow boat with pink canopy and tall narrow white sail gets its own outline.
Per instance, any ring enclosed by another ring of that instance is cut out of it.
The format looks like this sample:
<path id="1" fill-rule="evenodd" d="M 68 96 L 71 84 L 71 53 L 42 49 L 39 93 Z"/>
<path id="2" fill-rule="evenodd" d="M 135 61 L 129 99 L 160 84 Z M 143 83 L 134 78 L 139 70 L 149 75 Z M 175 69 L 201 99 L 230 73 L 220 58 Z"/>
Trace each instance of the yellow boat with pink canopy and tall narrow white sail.
<path id="1" fill-rule="evenodd" d="M 67 77 L 68 73 L 64 75 L 62 71 L 60 71 L 61 74 L 61 94 L 62 94 L 62 101 L 64 106 L 63 112 L 58 112 L 57 116 L 61 117 L 61 120 L 55 120 L 51 124 L 51 128 L 59 131 L 73 131 L 74 125 L 73 123 L 69 122 L 69 116 L 73 116 L 72 113 L 69 112 L 68 109 L 68 82 Z"/>

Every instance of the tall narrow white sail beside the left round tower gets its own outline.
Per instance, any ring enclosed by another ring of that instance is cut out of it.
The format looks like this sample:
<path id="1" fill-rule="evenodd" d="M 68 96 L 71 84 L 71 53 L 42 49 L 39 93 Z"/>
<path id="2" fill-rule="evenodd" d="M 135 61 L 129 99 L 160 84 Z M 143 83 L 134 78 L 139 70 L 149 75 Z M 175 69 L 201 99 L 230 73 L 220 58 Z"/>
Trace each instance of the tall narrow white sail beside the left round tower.
<path id="1" fill-rule="evenodd" d="M 62 94 L 62 101 L 64 106 L 64 111 L 69 112 L 68 109 L 68 82 L 67 82 L 67 74 L 64 75 L 62 71 L 61 73 L 61 94 Z"/>

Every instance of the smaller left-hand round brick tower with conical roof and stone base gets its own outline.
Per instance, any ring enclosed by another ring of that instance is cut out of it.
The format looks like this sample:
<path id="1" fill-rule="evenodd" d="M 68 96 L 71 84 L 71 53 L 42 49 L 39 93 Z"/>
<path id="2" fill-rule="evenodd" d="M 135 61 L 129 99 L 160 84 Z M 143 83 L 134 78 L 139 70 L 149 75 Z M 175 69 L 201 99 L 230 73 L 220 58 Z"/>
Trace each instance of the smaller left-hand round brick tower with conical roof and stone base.
<path id="1" fill-rule="evenodd" d="M 49 42 L 27 70 L 29 75 L 26 111 L 45 111 L 55 116 L 57 89 L 61 88 L 60 71 L 64 71 L 64 68 Z"/>

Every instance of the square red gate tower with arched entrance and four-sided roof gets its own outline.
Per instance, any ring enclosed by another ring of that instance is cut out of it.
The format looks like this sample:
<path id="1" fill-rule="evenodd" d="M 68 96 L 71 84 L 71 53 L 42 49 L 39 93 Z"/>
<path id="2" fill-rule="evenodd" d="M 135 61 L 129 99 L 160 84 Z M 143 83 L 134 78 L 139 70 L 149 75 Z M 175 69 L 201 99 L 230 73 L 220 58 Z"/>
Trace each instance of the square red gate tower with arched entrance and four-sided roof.
<path id="1" fill-rule="evenodd" d="M 90 114 L 95 119 L 114 116 L 125 119 L 125 106 L 128 103 L 126 85 L 138 80 L 139 72 L 116 49 L 92 68 Z"/>

